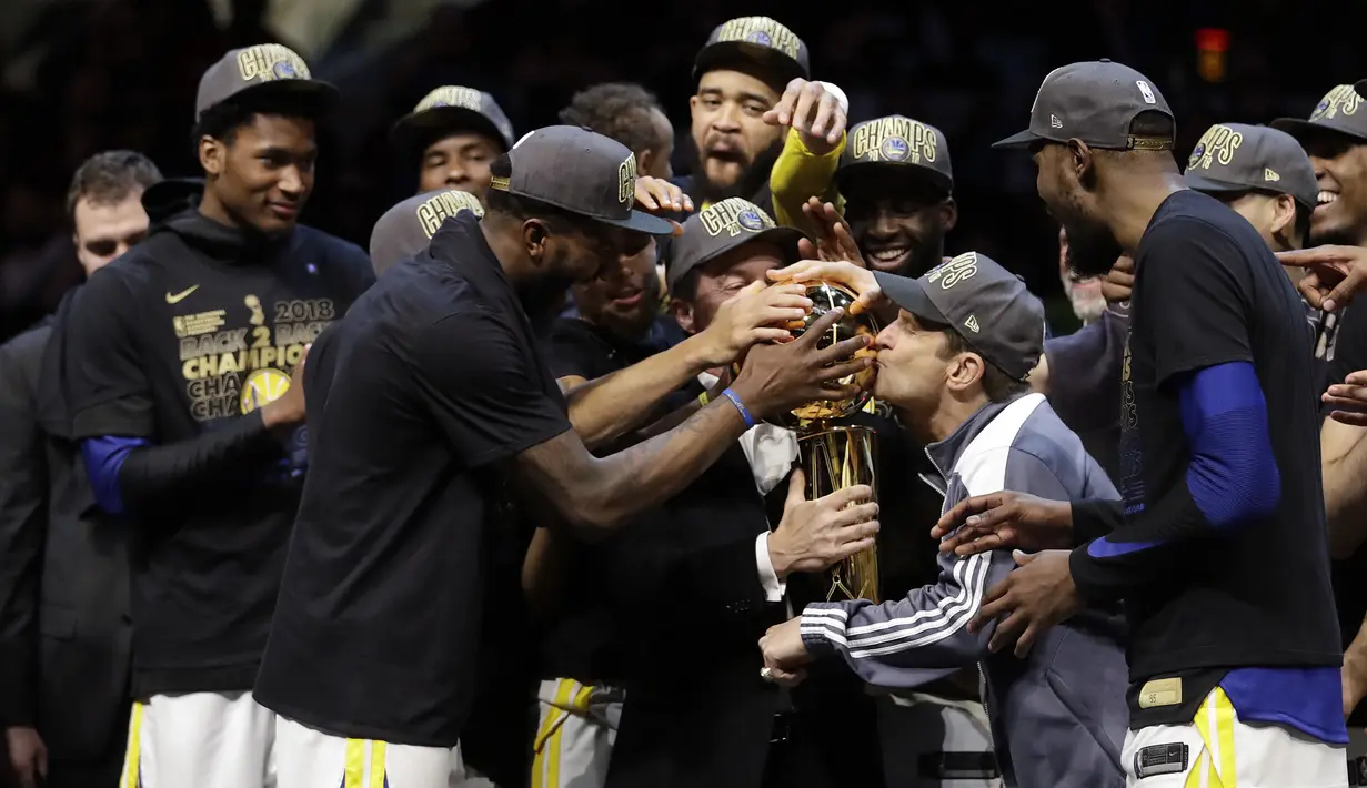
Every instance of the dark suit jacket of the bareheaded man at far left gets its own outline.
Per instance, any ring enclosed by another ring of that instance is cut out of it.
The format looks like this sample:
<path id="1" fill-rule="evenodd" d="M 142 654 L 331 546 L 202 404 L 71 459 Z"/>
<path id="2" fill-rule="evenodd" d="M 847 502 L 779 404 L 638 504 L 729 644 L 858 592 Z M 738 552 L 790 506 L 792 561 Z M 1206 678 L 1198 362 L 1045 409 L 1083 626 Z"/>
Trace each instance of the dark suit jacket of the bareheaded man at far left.
<path id="1" fill-rule="evenodd" d="M 0 347 L 0 722 L 37 727 L 56 761 L 118 746 L 131 660 L 124 533 L 42 371 L 70 303 Z"/>

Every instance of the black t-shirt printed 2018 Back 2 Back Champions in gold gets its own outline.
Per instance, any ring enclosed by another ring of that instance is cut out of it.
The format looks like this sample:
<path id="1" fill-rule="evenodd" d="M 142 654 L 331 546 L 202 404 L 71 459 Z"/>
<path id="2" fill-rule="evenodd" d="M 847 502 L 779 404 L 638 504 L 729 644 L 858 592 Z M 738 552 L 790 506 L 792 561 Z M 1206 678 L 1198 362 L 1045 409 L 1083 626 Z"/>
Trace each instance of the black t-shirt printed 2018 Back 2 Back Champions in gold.
<path id="1" fill-rule="evenodd" d="M 66 329 L 77 438 L 195 440 L 279 397 L 294 363 L 373 281 L 354 244 L 308 227 L 247 240 L 189 210 L 98 270 Z M 247 690 L 298 505 L 305 429 L 253 462 L 186 467 L 133 526 L 134 691 Z"/>

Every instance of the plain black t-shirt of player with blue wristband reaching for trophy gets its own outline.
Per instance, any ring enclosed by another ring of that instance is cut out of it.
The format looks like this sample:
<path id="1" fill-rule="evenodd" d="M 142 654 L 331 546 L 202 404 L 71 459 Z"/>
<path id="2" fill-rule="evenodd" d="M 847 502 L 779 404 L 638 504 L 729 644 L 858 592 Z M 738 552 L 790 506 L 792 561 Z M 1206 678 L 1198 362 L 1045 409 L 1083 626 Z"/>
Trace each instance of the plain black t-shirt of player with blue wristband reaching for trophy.
<path id="1" fill-rule="evenodd" d="M 502 460 L 569 430 L 565 403 L 474 217 L 327 343 L 256 698 L 338 735 L 451 747 L 477 690 L 487 529 L 509 522 Z"/>

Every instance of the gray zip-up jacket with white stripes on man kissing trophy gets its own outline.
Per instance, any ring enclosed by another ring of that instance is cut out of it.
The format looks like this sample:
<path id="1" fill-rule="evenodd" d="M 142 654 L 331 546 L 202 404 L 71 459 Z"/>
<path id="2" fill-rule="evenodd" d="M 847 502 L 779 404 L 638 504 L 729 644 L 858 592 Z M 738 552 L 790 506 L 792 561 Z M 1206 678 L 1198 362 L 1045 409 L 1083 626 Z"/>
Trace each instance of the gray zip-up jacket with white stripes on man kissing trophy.
<path id="1" fill-rule="evenodd" d="M 925 448 L 945 483 L 945 509 L 969 496 L 1016 490 L 1051 500 L 1118 498 L 1115 488 L 1043 395 L 988 404 Z M 924 478 L 924 477 L 923 477 Z M 928 482 L 932 479 L 927 479 Z M 913 527 L 931 523 L 917 523 Z M 865 681 L 912 688 L 979 664 L 992 746 L 1006 785 L 1120 788 L 1129 725 L 1124 624 L 1084 610 L 1036 641 L 1025 660 L 991 654 L 997 624 L 969 634 L 983 594 L 1016 563 L 1010 550 L 942 554 L 939 580 L 905 600 L 819 602 L 802 612 L 813 654 L 839 653 Z"/>

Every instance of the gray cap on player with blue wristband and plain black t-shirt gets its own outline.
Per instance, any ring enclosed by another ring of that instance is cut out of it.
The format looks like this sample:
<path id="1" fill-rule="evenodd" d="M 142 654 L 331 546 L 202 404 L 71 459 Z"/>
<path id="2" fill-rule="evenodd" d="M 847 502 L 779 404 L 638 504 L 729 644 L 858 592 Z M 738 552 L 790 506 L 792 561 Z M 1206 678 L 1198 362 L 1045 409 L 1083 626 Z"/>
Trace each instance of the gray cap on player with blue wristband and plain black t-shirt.
<path id="1" fill-rule="evenodd" d="M 526 197 L 651 235 L 674 235 L 673 221 L 633 210 L 636 154 L 621 142 L 578 126 L 547 126 L 509 150 L 513 173 L 489 188 Z"/>

